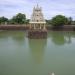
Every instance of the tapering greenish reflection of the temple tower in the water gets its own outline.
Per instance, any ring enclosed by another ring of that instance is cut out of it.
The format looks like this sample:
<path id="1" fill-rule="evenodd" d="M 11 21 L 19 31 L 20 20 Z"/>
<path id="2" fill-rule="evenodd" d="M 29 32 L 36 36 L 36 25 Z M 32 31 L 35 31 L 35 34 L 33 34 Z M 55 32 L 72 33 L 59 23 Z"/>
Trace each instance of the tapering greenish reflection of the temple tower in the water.
<path id="1" fill-rule="evenodd" d="M 29 47 L 36 63 L 41 63 L 44 56 L 47 39 L 29 39 Z"/>

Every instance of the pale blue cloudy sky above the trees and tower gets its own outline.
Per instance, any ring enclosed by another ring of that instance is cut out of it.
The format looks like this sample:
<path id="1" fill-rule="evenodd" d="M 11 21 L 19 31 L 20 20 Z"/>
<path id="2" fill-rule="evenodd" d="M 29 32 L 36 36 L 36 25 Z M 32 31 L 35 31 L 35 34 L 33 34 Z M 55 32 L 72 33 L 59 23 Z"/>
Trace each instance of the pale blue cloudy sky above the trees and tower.
<path id="1" fill-rule="evenodd" d="M 0 17 L 12 18 L 17 13 L 23 13 L 29 19 L 37 4 L 42 7 L 45 19 L 65 15 L 75 20 L 75 0 L 0 0 Z"/>

